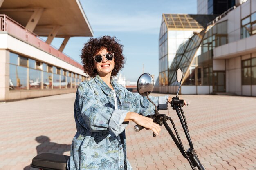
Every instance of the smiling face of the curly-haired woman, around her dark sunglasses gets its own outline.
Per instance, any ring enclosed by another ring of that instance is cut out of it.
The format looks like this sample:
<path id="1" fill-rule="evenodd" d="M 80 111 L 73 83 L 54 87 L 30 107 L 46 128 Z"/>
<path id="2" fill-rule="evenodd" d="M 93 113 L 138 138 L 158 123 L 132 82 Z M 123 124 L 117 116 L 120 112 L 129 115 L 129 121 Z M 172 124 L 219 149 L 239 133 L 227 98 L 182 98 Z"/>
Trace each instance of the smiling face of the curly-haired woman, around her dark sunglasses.
<path id="1" fill-rule="evenodd" d="M 111 76 L 111 72 L 115 66 L 115 62 L 114 62 L 115 58 L 113 58 L 113 60 L 111 61 L 108 61 L 105 56 L 105 54 L 107 53 L 108 53 L 107 49 L 102 48 L 98 53 L 96 53 L 96 55 L 104 55 L 102 58 L 102 61 L 100 63 L 97 63 L 95 62 L 95 60 L 93 60 L 94 68 L 97 70 L 100 77 L 105 77 L 106 75 Z"/>

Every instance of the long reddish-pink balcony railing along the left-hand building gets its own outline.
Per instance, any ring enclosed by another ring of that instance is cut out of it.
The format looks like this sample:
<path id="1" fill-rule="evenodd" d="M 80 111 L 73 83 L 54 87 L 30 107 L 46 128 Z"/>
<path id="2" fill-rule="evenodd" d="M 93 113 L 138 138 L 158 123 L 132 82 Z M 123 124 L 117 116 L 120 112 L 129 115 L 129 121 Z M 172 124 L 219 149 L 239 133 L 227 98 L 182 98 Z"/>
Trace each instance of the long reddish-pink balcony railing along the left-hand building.
<path id="1" fill-rule="evenodd" d="M 25 41 L 28 44 L 31 44 L 32 46 L 35 46 L 38 49 L 41 49 L 83 70 L 83 66 L 79 62 L 76 62 L 71 57 L 68 57 L 58 49 L 52 47 L 50 44 L 47 44 L 38 35 L 29 31 L 18 22 L 9 18 L 7 15 L 0 14 L 0 31 L 7 31 L 9 35 L 18 38 L 19 40 Z"/>

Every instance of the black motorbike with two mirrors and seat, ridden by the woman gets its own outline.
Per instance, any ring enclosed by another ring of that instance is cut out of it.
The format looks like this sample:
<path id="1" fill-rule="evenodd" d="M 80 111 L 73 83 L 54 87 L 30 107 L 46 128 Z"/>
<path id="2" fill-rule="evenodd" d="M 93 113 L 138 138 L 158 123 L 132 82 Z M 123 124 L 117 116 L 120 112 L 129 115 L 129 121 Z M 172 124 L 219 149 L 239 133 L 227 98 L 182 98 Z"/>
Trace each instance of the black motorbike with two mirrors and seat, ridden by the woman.
<path id="1" fill-rule="evenodd" d="M 180 82 L 180 86 L 182 84 L 183 76 L 184 75 L 182 70 L 178 68 L 176 71 L 176 79 L 177 79 L 177 82 Z M 147 99 L 155 106 L 155 110 L 154 110 L 155 114 L 150 115 L 148 117 L 152 118 L 153 121 L 159 124 L 160 126 L 164 125 L 164 127 L 166 128 L 168 133 L 171 135 L 171 138 L 175 142 L 176 146 L 178 147 L 182 155 L 189 161 L 189 164 L 192 170 L 196 170 L 195 168 L 198 168 L 198 170 L 205 170 L 204 166 L 201 164 L 200 160 L 198 159 L 198 156 L 195 152 L 195 149 L 193 148 L 193 144 L 189 135 L 189 129 L 188 129 L 186 118 L 182 109 L 182 107 L 184 106 L 184 100 L 179 99 L 179 96 L 178 96 L 178 93 L 180 91 L 180 86 L 178 88 L 176 97 L 172 98 L 171 107 L 173 108 L 173 110 L 176 110 L 177 115 L 182 124 L 182 128 L 188 140 L 189 149 L 187 151 L 185 151 L 184 149 L 180 136 L 177 132 L 177 129 L 171 117 L 168 117 L 164 114 L 159 114 L 157 110 L 157 106 L 148 97 L 148 95 L 153 91 L 153 88 L 154 88 L 154 80 L 150 74 L 144 73 L 139 77 L 137 82 L 137 91 L 140 95 L 146 96 Z M 174 135 L 171 128 L 168 126 L 168 123 L 167 123 L 168 120 L 171 121 L 171 124 L 173 126 L 173 129 L 177 137 Z M 139 132 L 143 128 L 144 127 L 140 125 L 134 126 L 135 132 Z M 156 135 L 153 132 L 153 137 L 155 136 Z M 33 168 L 38 168 L 40 170 L 67 170 L 67 160 L 69 158 L 70 157 L 67 155 L 41 153 L 32 159 L 32 163 L 30 164 L 30 166 Z"/>

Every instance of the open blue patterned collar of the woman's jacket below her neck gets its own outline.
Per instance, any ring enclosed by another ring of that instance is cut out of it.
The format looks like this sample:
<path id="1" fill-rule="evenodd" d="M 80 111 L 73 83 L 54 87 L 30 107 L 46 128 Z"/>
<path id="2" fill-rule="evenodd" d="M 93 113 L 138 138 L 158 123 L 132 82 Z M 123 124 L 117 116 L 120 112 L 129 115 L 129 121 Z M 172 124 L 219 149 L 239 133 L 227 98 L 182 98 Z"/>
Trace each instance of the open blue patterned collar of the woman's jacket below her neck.
<path id="1" fill-rule="evenodd" d="M 100 86 L 100 88 L 104 91 L 104 93 L 107 93 L 108 95 L 113 95 L 112 89 L 101 79 L 99 75 L 96 75 L 94 77 L 94 81 Z M 115 92 L 120 95 L 121 94 L 121 88 L 120 86 L 111 79 L 111 85 L 113 86 Z"/>

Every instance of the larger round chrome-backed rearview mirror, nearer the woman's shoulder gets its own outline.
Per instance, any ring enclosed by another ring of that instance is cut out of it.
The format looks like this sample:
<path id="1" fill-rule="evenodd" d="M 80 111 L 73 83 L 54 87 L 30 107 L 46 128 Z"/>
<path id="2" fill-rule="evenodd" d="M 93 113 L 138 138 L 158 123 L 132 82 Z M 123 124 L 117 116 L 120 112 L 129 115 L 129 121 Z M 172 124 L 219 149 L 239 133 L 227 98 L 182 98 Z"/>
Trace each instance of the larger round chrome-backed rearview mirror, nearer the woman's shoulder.
<path id="1" fill-rule="evenodd" d="M 154 79 L 152 75 L 148 73 L 144 73 L 141 76 L 139 76 L 138 82 L 137 82 L 137 91 L 142 96 L 147 96 L 150 94 L 154 89 Z"/>

